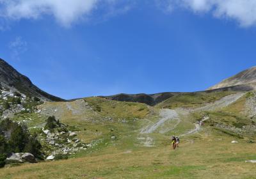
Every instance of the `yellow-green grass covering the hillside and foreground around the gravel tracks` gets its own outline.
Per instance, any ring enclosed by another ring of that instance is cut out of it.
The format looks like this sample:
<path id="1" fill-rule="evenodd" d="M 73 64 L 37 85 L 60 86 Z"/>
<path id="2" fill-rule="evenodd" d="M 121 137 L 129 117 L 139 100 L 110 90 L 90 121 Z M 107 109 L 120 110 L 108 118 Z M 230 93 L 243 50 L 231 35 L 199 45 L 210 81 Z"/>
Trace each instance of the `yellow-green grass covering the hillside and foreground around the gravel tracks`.
<path id="1" fill-rule="evenodd" d="M 216 93 L 207 96 L 207 101 L 225 95 Z M 204 104 L 201 95 L 192 97 L 193 104 L 188 96 L 184 97 L 186 100 L 180 98 L 177 100 L 182 101 L 179 107 Z M 169 137 L 162 134 L 150 134 L 156 141 L 152 148 L 138 143 L 138 132 L 145 120 L 134 118 L 147 117 L 155 121 L 157 110 L 138 103 L 113 102 L 101 98 L 85 100 L 92 105 L 93 110 L 88 111 L 88 116 L 94 115 L 95 122 L 72 115 L 67 115 L 63 120 L 76 127 L 79 137 L 84 140 L 103 139 L 102 143 L 72 155 L 73 159 L 0 169 L 0 178 L 256 178 L 255 164 L 244 162 L 256 160 L 256 144 L 247 143 L 247 137 L 239 139 L 236 135 L 232 136 L 211 126 L 212 121 L 234 125 L 240 119 L 247 123 L 248 119 L 240 113 L 246 98 L 241 98 L 223 111 L 205 112 L 211 120 L 205 121 L 204 129 L 198 134 L 183 137 L 180 148 L 175 151 L 170 149 Z M 199 118 L 205 113 L 198 114 Z M 109 117 L 114 121 L 97 120 Z M 180 134 L 192 128 L 194 117 L 184 117 L 173 132 Z M 119 118 L 128 120 L 122 123 Z M 111 139 L 113 135 L 117 138 Z M 233 140 L 239 143 L 230 143 Z"/>

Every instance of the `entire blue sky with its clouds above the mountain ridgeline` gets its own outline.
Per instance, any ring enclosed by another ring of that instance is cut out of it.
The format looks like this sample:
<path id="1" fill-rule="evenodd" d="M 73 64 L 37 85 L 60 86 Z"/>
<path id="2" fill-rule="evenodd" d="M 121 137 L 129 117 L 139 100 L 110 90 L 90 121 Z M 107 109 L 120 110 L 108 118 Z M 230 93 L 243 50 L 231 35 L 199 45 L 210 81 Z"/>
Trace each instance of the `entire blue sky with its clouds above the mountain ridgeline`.
<path id="1" fill-rule="evenodd" d="M 0 58 L 58 97 L 200 91 L 255 66 L 250 0 L 8 2 Z"/>

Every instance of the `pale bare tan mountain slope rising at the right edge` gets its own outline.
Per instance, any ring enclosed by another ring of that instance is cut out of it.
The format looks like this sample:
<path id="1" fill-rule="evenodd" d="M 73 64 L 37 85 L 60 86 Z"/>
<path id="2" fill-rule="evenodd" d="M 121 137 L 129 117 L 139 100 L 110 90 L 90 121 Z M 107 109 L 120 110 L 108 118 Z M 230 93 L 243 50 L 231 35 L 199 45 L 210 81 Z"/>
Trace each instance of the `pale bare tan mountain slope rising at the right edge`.
<path id="1" fill-rule="evenodd" d="M 220 83 L 209 88 L 209 90 L 241 85 L 256 89 L 256 66 L 253 66 L 248 70 L 244 70 L 239 74 L 236 74 L 228 79 L 221 81 Z"/>

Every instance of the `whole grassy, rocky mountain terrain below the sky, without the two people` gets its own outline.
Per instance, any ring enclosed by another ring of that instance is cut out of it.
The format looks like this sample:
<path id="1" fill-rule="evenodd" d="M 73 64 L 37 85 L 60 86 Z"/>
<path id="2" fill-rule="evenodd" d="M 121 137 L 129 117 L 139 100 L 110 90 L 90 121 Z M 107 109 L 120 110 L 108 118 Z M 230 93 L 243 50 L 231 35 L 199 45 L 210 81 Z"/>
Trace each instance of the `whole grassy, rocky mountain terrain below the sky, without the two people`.
<path id="1" fill-rule="evenodd" d="M 1 59 L 0 82 L 0 178 L 256 178 L 255 67 L 205 91 L 63 100 Z"/>

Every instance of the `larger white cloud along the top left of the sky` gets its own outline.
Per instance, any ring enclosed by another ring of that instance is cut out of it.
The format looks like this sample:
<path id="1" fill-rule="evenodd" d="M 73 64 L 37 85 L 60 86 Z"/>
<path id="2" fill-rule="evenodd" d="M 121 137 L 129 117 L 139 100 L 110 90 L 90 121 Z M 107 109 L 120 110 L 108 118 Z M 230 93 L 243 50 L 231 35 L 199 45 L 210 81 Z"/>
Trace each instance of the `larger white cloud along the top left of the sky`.
<path id="1" fill-rule="evenodd" d="M 86 19 L 100 4 L 116 0 L 0 0 L 0 17 L 10 20 L 38 19 L 52 15 L 63 26 Z"/>

